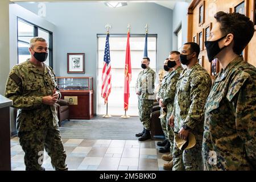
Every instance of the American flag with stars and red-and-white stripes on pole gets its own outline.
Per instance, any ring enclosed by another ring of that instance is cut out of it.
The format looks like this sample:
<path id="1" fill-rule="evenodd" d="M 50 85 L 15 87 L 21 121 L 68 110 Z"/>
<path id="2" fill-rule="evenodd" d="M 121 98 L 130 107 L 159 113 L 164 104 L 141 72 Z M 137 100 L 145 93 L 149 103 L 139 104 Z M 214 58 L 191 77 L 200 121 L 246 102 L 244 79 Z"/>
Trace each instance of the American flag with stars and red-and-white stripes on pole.
<path id="1" fill-rule="evenodd" d="M 104 98 L 105 104 L 108 102 L 108 97 L 111 92 L 111 64 L 109 52 L 109 34 L 106 36 L 106 46 L 104 52 L 104 67 L 102 69 L 102 86 L 101 97 Z"/>

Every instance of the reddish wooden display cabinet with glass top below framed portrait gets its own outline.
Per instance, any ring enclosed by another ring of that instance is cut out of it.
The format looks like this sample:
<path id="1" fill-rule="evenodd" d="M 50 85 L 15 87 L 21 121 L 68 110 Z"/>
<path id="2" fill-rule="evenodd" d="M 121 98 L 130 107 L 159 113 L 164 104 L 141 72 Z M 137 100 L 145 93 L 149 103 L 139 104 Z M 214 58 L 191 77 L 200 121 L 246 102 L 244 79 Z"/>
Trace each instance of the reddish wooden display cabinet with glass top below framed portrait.
<path id="1" fill-rule="evenodd" d="M 69 102 L 69 118 L 93 118 L 92 77 L 56 77 L 56 80 L 61 99 Z"/>

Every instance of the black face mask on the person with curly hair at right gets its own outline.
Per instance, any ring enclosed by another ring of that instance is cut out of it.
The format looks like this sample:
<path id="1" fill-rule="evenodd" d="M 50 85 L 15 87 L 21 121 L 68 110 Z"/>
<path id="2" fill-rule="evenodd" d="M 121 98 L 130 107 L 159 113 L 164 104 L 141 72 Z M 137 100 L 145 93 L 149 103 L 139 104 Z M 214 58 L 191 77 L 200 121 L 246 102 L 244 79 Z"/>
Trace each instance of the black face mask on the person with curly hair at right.
<path id="1" fill-rule="evenodd" d="M 215 41 L 205 41 L 205 47 L 207 48 L 207 55 L 208 55 L 208 60 L 211 63 L 212 60 L 215 58 L 215 56 L 218 55 L 218 53 L 220 53 L 226 46 L 220 48 L 218 46 L 218 42 L 220 42 L 220 40 L 224 39 L 226 37 L 223 36 L 222 38 L 215 40 Z"/>

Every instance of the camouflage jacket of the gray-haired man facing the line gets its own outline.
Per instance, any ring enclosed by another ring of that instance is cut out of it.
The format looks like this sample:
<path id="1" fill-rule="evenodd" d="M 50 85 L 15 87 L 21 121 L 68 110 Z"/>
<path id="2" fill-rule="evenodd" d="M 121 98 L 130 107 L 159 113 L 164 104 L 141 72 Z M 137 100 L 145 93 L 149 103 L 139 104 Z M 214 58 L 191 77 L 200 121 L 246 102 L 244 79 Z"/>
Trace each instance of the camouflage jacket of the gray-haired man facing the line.
<path id="1" fill-rule="evenodd" d="M 18 109 L 18 132 L 57 126 L 59 121 L 56 107 L 42 104 L 44 96 L 52 95 L 55 88 L 58 90 L 52 68 L 44 65 L 43 75 L 27 60 L 15 65 L 7 79 L 5 97 L 13 100 L 13 107 Z"/>

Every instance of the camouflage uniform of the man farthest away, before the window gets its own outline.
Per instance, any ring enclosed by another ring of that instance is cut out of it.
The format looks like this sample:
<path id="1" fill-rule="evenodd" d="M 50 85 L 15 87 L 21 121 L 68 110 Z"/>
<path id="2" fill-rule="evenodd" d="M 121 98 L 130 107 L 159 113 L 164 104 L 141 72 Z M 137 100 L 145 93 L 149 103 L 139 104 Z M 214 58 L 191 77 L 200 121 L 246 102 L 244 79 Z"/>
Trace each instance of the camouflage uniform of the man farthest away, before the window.
<path id="1" fill-rule="evenodd" d="M 154 104 L 155 71 L 143 69 L 139 73 L 135 89 L 141 93 L 138 96 L 139 120 L 146 130 L 150 130 L 150 114 Z"/>

